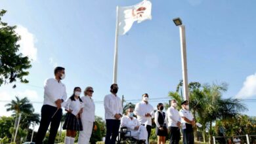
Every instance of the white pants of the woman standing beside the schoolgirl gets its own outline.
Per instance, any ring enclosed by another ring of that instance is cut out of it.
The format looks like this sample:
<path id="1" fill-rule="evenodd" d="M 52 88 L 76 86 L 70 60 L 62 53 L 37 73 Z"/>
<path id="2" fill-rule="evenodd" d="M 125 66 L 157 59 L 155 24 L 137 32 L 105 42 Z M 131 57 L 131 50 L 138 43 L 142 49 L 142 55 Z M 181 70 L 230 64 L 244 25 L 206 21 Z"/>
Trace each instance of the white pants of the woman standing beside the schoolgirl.
<path id="1" fill-rule="evenodd" d="M 83 131 L 79 132 L 78 144 L 89 144 L 93 132 L 93 122 L 82 120 Z"/>

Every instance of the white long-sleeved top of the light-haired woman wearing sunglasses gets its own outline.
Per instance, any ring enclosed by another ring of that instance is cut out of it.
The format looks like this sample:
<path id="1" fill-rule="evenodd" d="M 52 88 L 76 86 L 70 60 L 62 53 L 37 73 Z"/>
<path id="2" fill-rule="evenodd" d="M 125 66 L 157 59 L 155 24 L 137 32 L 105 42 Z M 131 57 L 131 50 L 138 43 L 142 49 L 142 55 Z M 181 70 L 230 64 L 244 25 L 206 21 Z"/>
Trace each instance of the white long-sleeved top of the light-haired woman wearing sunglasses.
<path id="1" fill-rule="evenodd" d="M 91 98 L 91 96 L 83 96 L 83 113 L 82 120 L 87 120 L 89 122 L 95 121 L 95 102 Z"/>

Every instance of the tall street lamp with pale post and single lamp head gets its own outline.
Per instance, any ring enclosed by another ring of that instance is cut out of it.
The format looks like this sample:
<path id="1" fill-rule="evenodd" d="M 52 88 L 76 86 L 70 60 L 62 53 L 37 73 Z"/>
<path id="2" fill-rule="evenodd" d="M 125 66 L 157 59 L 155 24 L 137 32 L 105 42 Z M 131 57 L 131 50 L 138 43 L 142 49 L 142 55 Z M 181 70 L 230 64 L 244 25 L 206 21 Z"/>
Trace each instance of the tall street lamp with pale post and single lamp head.
<path id="1" fill-rule="evenodd" d="M 183 79 L 183 92 L 184 100 L 188 100 L 188 69 L 186 67 L 186 35 L 185 26 L 182 25 L 181 18 L 174 18 L 173 22 L 180 28 L 180 39 L 181 39 L 181 62 L 182 62 L 182 79 Z"/>

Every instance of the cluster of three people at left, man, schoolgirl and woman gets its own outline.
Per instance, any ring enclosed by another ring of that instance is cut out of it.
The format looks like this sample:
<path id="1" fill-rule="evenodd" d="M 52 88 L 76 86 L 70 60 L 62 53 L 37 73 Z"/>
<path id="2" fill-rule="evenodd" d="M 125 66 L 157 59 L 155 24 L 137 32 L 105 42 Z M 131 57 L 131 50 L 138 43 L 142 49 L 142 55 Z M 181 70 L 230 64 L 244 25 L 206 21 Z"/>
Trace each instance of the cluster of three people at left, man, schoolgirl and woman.
<path id="1" fill-rule="evenodd" d="M 79 132 L 79 144 L 89 143 L 95 122 L 95 103 L 92 99 L 93 87 L 87 86 L 83 91 L 84 96 L 81 98 L 81 88 L 75 87 L 72 96 L 65 101 L 67 99 L 66 86 L 61 82 L 65 78 L 64 67 L 56 67 L 54 76 L 54 78 L 45 81 L 41 121 L 35 143 L 43 143 L 50 124 L 48 143 L 54 143 L 62 118 L 62 107 L 67 111 L 63 125 L 63 129 L 66 130 L 65 143 L 74 143 L 77 132 Z"/>

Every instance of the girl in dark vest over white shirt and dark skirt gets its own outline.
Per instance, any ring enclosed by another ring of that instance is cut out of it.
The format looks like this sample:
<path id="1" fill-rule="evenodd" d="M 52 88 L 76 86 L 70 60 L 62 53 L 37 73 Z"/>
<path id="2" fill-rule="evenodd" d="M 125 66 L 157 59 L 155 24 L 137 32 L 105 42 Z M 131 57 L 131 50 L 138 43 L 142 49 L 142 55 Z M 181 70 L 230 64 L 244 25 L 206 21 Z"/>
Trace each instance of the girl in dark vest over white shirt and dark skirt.
<path id="1" fill-rule="evenodd" d="M 163 103 L 158 103 L 158 111 L 155 113 L 156 135 L 158 135 L 158 144 L 165 144 L 167 136 L 167 117 L 163 112 Z"/>

